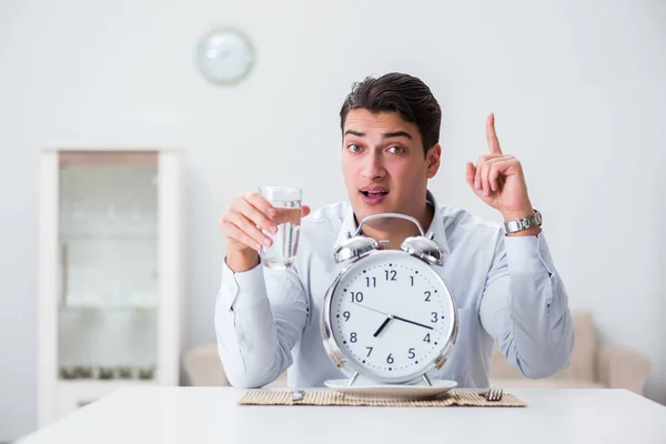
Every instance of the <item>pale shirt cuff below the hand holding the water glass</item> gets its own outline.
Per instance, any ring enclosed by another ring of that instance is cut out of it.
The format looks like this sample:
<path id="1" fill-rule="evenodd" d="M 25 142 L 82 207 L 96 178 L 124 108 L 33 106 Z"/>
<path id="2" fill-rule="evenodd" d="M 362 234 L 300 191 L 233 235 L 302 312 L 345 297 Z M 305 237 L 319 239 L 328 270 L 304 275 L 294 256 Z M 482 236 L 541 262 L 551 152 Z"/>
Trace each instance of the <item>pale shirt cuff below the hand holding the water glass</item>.
<path id="1" fill-rule="evenodd" d="M 261 262 L 253 269 L 235 273 L 229 268 L 226 256 L 224 256 L 222 295 L 222 304 L 229 311 L 233 311 L 234 306 L 253 305 L 265 299 L 266 285 Z"/>

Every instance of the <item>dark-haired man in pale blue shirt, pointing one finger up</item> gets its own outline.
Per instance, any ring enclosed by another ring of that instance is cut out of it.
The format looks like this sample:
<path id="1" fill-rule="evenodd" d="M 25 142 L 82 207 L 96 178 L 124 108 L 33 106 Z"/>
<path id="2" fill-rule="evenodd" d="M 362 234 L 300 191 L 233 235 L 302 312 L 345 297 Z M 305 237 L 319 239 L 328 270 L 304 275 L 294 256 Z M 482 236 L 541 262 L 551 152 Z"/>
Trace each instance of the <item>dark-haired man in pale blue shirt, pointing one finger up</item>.
<path id="1" fill-rule="evenodd" d="M 262 244 L 274 232 L 274 209 L 256 193 L 235 198 L 222 218 L 226 258 L 216 300 L 220 357 L 234 386 L 258 387 L 286 369 L 290 386 L 322 386 L 343 377 L 320 333 L 326 289 L 336 275 L 335 245 L 376 213 L 407 214 L 434 234 L 445 251 L 441 274 L 460 314 L 457 342 L 434 377 L 486 387 L 493 341 L 528 377 L 545 377 L 569 362 L 574 332 L 567 295 L 553 265 L 527 194 L 521 163 L 504 154 L 494 117 L 486 122 L 490 153 L 466 165 L 474 193 L 505 222 L 492 224 L 442 205 L 427 190 L 440 168 L 441 109 L 414 77 L 390 73 L 356 83 L 341 113 L 342 172 L 349 202 L 310 214 L 304 206 L 295 265 L 260 265 Z M 532 218 L 533 226 L 513 221 Z M 514 230 L 515 229 L 515 230 Z M 363 233 L 397 249 L 417 228 L 402 219 L 377 219 Z"/>

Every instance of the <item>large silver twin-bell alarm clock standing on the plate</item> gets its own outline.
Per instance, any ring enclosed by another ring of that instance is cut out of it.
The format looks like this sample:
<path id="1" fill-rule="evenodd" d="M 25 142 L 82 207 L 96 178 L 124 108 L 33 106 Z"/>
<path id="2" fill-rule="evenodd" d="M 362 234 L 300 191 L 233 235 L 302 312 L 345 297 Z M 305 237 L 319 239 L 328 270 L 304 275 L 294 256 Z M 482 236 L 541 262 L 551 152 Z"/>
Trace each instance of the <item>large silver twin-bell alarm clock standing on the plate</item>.
<path id="1" fill-rule="evenodd" d="M 398 218 L 416 224 L 401 250 L 360 235 L 363 224 Z M 444 250 L 425 236 L 417 220 L 400 213 L 365 218 L 354 235 L 335 249 L 342 270 L 326 291 L 321 317 L 324 347 L 351 386 L 375 384 L 432 386 L 431 376 L 450 357 L 458 317 L 455 300 L 437 268 Z"/>

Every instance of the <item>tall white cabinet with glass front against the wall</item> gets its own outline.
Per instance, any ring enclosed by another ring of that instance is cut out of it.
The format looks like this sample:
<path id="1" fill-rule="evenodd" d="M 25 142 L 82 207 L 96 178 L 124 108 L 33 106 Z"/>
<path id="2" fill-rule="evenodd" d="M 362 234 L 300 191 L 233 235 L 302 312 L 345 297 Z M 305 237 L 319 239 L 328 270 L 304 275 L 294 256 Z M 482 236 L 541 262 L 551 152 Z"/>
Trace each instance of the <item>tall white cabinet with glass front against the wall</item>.
<path id="1" fill-rule="evenodd" d="M 183 178 L 176 150 L 46 150 L 39 425 L 125 385 L 178 385 Z"/>

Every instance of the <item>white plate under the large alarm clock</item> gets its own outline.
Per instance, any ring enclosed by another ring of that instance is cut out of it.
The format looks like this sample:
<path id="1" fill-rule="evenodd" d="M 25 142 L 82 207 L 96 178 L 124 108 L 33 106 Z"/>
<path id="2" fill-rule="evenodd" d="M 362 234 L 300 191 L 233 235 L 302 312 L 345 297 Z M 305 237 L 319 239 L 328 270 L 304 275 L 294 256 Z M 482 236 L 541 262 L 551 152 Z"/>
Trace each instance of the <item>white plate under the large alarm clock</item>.
<path id="1" fill-rule="evenodd" d="M 432 400 L 457 386 L 455 381 L 447 380 L 433 380 L 432 386 L 357 383 L 350 386 L 350 380 L 329 380 L 324 384 L 347 397 L 373 401 Z"/>

